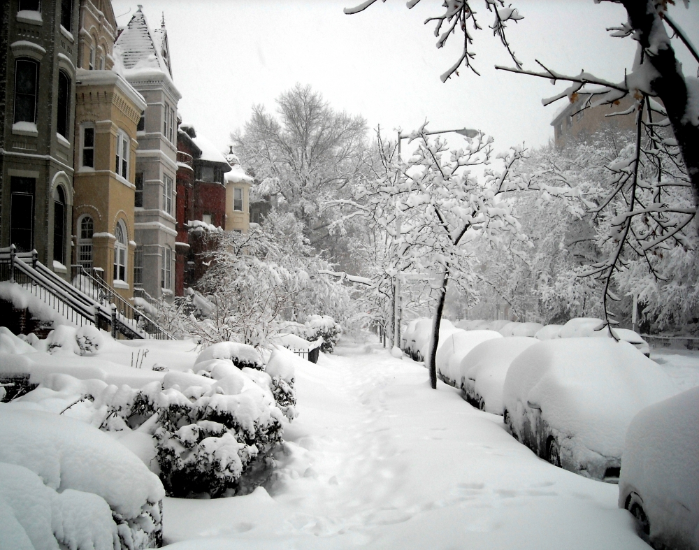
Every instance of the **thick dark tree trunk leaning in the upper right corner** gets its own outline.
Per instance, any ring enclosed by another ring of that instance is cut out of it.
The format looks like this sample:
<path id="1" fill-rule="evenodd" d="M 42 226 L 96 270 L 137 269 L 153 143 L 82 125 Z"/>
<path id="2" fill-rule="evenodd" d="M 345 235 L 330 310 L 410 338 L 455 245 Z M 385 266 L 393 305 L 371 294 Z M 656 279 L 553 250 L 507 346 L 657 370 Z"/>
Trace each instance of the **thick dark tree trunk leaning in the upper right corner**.
<path id="1" fill-rule="evenodd" d="M 654 26 L 663 25 L 655 6 L 652 5 L 653 1 L 622 0 L 622 3 L 631 26 L 637 31 L 637 40 L 641 47 L 647 50 L 651 45 L 650 38 Z M 660 73 L 660 77 L 651 82 L 651 85 L 668 113 L 668 120 L 691 181 L 694 204 L 699 205 L 699 127 L 694 126 L 689 117 L 685 116 L 689 94 L 681 65 L 675 57 L 675 50 L 670 46 L 665 50 L 659 50 L 657 55 L 648 55 L 648 60 Z"/>

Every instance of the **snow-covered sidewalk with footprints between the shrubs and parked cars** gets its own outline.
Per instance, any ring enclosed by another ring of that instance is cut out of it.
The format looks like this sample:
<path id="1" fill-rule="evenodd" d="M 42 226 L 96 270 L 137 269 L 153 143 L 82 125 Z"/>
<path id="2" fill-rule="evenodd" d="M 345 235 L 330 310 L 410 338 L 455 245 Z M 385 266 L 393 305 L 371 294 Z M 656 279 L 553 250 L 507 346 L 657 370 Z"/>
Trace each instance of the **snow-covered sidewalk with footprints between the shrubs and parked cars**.
<path id="1" fill-rule="evenodd" d="M 647 549 L 616 485 L 546 463 L 410 359 L 339 347 L 296 371 L 268 491 L 166 498 L 173 550 Z"/>

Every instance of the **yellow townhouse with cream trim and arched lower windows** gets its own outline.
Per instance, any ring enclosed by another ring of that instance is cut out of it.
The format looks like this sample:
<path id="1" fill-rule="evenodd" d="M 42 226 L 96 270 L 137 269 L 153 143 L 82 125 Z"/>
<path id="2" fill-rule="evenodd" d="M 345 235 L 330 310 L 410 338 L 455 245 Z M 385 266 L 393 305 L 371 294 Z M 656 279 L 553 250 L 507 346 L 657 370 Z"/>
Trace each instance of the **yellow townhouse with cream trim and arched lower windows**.
<path id="1" fill-rule="evenodd" d="M 82 0 L 76 87 L 74 262 L 134 294 L 136 126 L 145 100 L 112 71 L 116 21 L 108 0 Z"/>

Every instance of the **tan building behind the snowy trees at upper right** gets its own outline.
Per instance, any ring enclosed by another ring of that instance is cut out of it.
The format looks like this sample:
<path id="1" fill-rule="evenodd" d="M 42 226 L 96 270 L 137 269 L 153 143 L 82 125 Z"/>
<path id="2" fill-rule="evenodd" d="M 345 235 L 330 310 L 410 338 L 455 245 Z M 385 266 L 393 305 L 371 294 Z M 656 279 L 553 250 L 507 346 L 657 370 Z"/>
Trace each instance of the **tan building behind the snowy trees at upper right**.
<path id="1" fill-rule="evenodd" d="M 607 116 L 610 113 L 622 113 L 628 110 L 635 101 L 626 96 L 619 100 L 618 105 L 601 105 L 582 109 L 588 94 L 579 94 L 577 101 L 565 105 L 552 120 L 554 126 L 554 144 L 559 149 L 577 140 L 586 140 L 594 133 L 604 129 L 619 129 L 621 131 L 633 131 L 636 127 L 636 115 Z"/>

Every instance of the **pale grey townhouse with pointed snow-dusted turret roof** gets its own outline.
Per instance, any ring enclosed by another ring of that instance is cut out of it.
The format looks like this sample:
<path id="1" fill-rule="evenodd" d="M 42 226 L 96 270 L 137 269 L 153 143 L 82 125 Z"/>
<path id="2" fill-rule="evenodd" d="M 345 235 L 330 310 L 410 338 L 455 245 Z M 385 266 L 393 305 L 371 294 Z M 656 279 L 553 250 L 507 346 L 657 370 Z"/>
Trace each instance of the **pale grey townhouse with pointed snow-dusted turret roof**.
<path id="1" fill-rule="evenodd" d="M 145 98 L 138 124 L 134 284 L 159 298 L 172 296 L 175 277 L 177 106 L 164 23 L 151 31 L 139 6 L 115 43 L 117 70 Z"/>

